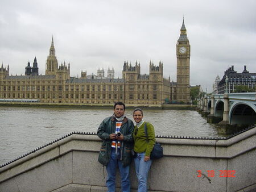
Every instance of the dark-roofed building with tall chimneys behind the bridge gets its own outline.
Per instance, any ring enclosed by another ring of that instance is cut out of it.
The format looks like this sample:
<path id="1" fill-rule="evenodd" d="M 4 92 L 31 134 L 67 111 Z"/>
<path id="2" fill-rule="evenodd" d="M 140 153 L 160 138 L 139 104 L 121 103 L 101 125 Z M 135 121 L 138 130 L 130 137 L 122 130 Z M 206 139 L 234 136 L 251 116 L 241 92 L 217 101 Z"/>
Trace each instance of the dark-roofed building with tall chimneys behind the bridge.
<path id="1" fill-rule="evenodd" d="M 224 76 L 218 83 L 218 93 L 233 93 L 236 90 L 236 86 L 247 86 L 255 91 L 256 73 L 249 73 L 244 66 L 242 73 L 234 71 L 232 65 L 224 72 Z"/>

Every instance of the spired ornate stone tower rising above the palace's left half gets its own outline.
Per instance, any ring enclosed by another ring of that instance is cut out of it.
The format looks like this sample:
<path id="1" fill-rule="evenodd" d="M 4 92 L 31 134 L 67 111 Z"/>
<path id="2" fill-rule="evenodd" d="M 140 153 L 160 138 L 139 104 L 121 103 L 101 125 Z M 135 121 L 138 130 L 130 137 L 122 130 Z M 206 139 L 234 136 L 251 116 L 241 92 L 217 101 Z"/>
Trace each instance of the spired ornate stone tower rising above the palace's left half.
<path id="1" fill-rule="evenodd" d="M 58 69 L 58 61 L 55 56 L 55 48 L 53 45 L 53 37 L 52 37 L 52 44 L 49 49 L 49 56 L 47 57 L 46 61 L 46 75 L 56 74 Z"/>

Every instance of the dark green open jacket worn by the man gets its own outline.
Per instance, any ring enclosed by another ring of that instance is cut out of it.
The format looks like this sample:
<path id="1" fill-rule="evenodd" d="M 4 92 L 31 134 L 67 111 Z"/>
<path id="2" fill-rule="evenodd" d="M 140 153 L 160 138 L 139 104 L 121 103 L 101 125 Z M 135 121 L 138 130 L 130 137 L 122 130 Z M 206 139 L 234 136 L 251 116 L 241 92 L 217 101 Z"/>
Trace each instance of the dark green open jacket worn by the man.
<path id="1" fill-rule="evenodd" d="M 133 130 L 133 122 L 125 117 L 120 128 L 120 132 L 123 135 L 120 148 L 120 161 L 122 162 L 123 166 L 127 166 L 131 163 L 131 149 L 133 149 Z M 111 133 L 115 133 L 115 118 L 113 116 L 104 119 L 101 122 L 100 127 L 98 127 L 97 131 L 98 137 L 103 140 L 100 149 L 100 155 L 98 156 L 98 161 L 105 166 L 109 163 L 110 153 L 112 150 L 112 140 L 109 139 L 109 135 Z"/>

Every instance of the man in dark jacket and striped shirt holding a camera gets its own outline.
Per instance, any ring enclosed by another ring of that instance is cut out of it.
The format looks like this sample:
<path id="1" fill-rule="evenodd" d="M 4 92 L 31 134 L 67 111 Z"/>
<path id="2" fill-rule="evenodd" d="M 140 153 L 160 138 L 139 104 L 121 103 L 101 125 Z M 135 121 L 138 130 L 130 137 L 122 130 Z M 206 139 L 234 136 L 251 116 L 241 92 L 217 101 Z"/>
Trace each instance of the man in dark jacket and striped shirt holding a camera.
<path id="1" fill-rule="evenodd" d="M 108 178 L 106 185 L 109 192 L 115 191 L 115 173 L 117 166 L 121 176 L 123 192 L 130 191 L 129 169 L 131 149 L 133 148 L 134 124 L 125 116 L 125 104 L 117 102 L 114 114 L 101 122 L 97 135 L 102 141 L 98 161 L 106 166 Z"/>

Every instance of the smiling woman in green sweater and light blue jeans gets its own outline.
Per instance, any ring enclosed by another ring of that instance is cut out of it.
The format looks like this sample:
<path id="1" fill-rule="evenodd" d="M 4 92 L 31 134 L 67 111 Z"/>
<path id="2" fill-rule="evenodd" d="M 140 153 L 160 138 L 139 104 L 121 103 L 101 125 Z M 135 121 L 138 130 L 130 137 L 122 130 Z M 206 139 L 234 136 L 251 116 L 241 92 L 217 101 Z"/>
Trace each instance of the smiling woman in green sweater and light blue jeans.
<path id="1" fill-rule="evenodd" d="M 133 139 L 134 151 L 137 153 L 134 162 L 139 184 L 138 192 L 145 192 L 147 191 L 147 173 L 152 163 L 150 153 L 155 144 L 155 130 L 151 123 L 144 122 L 141 108 L 135 108 L 133 118 L 136 122 Z M 144 131 L 145 126 L 147 129 L 147 137 Z"/>

